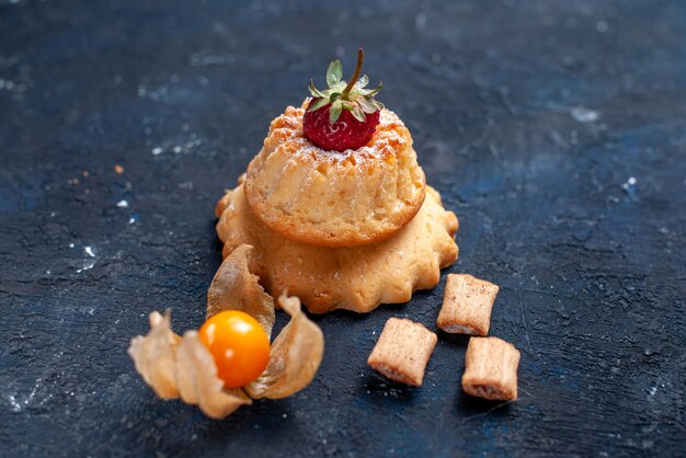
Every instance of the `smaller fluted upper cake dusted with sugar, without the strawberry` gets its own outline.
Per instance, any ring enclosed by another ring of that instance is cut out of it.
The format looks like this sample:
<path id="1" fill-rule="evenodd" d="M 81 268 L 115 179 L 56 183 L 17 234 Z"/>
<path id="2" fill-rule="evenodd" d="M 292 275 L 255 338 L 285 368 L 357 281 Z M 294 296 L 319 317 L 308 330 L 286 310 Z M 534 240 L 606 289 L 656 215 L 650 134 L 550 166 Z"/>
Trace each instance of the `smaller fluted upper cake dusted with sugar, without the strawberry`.
<path id="1" fill-rule="evenodd" d="M 382 110 L 357 150 L 325 151 L 302 133 L 302 107 L 276 117 L 250 162 L 245 197 L 283 237 L 319 247 L 355 247 L 392 236 L 419 211 L 425 178 L 402 121 Z"/>

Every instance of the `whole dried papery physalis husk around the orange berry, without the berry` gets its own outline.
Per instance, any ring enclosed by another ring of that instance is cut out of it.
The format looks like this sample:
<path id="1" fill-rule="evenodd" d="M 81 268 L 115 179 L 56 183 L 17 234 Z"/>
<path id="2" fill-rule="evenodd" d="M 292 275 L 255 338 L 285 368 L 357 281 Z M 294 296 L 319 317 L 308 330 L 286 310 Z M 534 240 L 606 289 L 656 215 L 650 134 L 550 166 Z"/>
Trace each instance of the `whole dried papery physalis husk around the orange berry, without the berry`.
<path id="1" fill-rule="evenodd" d="M 253 316 L 267 335 L 274 325 L 274 301 L 248 270 L 252 247 L 241 245 L 228 256 L 208 291 L 207 316 L 224 310 L 241 310 Z M 197 404 L 213 419 L 222 419 L 252 403 L 253 398 L 278 399 L 305 388 L 315 377 L 323 354 L 323 335 L 300 309 L 298 298 L 279 298 L 290 322 L 272 343 L 265 371 L 244 389 L 225 389 L 217 367 L 197 332 L 183 337 L 171 330 L 168 312 L 150 314 L 150 332 L 137 336 L 128 348 L 136 370 L 162 399 L 181 398 Z"/>

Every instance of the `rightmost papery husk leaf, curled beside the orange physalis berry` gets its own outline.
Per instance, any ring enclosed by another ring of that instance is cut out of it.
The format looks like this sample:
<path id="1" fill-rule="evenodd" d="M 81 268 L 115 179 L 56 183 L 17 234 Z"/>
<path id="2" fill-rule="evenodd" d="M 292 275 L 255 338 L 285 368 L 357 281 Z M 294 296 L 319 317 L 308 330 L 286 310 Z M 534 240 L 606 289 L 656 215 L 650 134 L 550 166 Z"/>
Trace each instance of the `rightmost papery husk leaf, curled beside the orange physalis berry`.
<path id="1" fill-rule="evenodd" d="M 324 336 L 302 312 L 300 299 L 282 295 L 278 304 L 290 321 L 272 343 L 264 373 L 244 387 L 254 399 L 281 399 L 300 391 L 315 378 L 324 353 Z"/>

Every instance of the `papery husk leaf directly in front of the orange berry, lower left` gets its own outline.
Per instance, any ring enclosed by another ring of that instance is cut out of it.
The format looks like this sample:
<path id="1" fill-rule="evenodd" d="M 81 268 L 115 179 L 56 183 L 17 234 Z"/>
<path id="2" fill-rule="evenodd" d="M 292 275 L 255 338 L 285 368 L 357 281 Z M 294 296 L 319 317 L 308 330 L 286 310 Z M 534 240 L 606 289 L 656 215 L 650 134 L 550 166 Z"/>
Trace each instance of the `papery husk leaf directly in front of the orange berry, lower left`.
<path id="1" fill-rule="evenodd" d="M 181 399 L 197 404 L 211 419 L 224 419 L 252 400 L 241 389 L 225 389 L 217 366 L 196 331 L 187 331 L 176 351 L 176 382 Z"/>

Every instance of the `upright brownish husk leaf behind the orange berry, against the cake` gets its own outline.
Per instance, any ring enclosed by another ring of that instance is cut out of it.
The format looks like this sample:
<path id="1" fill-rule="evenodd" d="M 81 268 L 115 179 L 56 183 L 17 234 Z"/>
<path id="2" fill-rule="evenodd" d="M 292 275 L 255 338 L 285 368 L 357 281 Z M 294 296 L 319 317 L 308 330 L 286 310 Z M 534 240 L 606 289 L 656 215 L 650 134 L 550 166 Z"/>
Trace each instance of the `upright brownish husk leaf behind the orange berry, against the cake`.
<path id="1" fill-rule="evenodd" d="M 274 299 L 248 268 L 252 247 L 240 245 L 227 256 L 207 290 L 207 317 L 225 310 L 240 310 L 253 317 L 267 337 L 274 327 Z"/>

